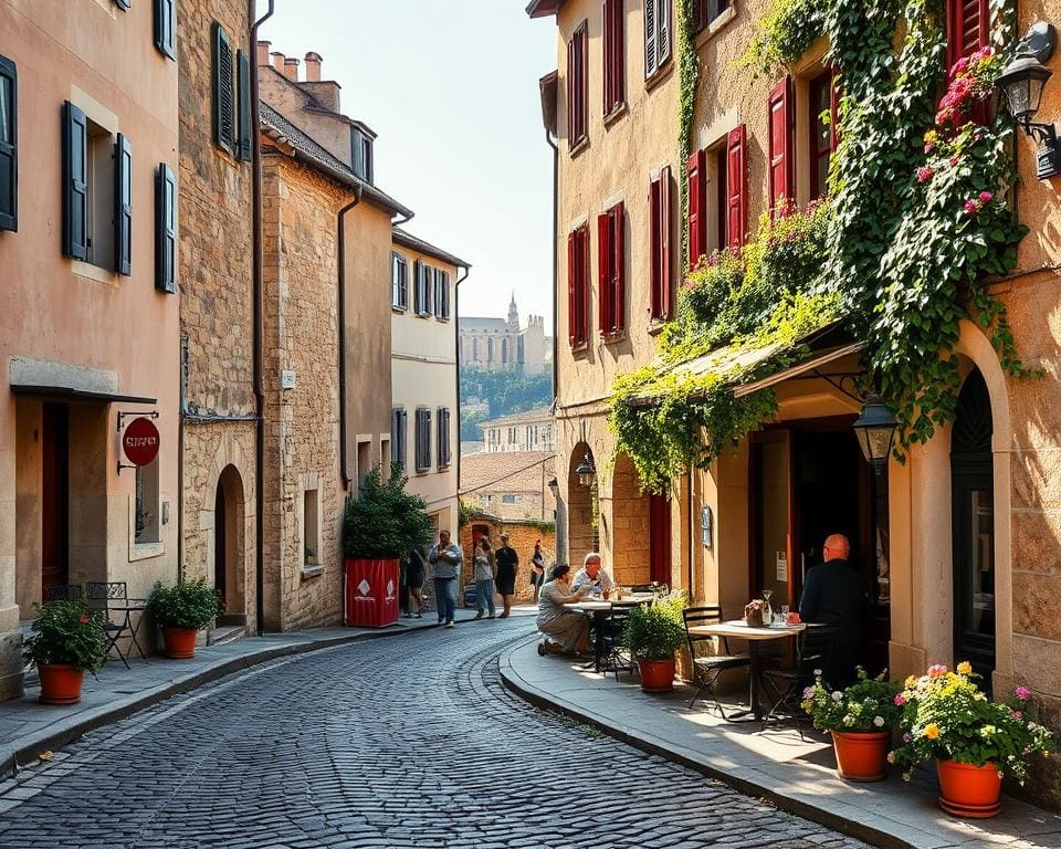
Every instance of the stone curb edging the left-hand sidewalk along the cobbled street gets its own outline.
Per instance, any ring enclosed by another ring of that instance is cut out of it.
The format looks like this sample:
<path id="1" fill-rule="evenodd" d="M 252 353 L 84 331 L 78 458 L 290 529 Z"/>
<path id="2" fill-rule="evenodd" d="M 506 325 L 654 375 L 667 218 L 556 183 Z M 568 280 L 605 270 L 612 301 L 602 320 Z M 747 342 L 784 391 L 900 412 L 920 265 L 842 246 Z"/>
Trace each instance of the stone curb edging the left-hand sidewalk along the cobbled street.
<path id="1" fill-rule="evenodd" d="M 309 638 L 304 642 L 292 642 L 286 646 L 273 646 L 239 658 L 230 658 L 229 660 L 219 662 L 217 665 L 200 670 L 178 681 L 171 681 L 161 686 L 134 693 L 126 699 L 111 702 L 109 704 L 101 705 L 95 710 L 87 711 L 85 714 L 72 720 L 71 723 L 64 727 L 49 729 L 48 731 L 36 734 L 27 734 L 25 737 L 13 745 L 0 746 L 0 776 L 8 775 L 9 773 L 17 773 L 20 764 L 27 764 L 36 759 L 38 754 L 41 752 L 61 748 L 62 746 L 74 742 L 84 734 L 87 734 L 90 731 L 94 731 L 95 729 L 103 727 L 104 725 L 109 725 L 114 722 L 118 722 L 119 720 L 124 720 L 127 716 L 132 716 L 134 713 L 143 711 L 145 708 L 149 708 L 158 702 L 165 701 L 172 695 L 187 693 L 191 690 L 202 686 L 203 684 L 208 684 L 212 681 L 224 678 L 225 675 L 230 675 L 233 672 L 240 672 L 244 669 L 261 665 L 262 663 L 267 663 L 269 661 L 276 660 L 277 658 L 291 657 L 293 654 L 306 654 L 312 651 L 321 651 L 324 649 L 334 648 L 336 646 L 345 646 L 365 640 L 378 640 L 387 637 L 403 637 L 409 633 L 417 633 L 419 631 L 439 627 L 441 626 L 434 622 L 426 622 L 423 625 L 409 625 L 403 627 L 401 630 L 382 630 L 378 632 L 363 631 L 359 633 L 351 633 L 349 637 L 327 637 L 322 639 Z"/>

